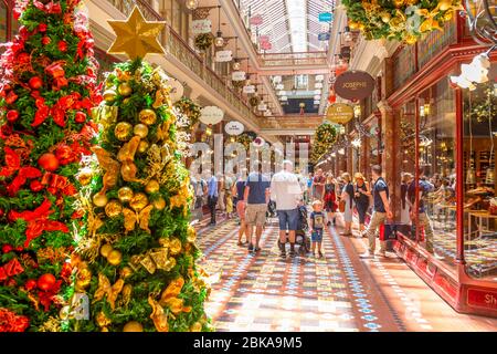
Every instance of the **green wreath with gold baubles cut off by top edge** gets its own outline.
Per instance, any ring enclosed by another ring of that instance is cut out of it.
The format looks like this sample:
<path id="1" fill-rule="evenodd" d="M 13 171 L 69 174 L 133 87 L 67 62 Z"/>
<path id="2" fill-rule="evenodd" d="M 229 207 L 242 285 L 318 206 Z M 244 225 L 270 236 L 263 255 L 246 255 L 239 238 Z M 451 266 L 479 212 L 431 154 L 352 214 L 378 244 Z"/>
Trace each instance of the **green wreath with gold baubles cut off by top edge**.
<path id="1" fill-rule="evenodd" d="M 351 30 L 367 40 L 389 39 L 414 44 L 423 33 L 442 30 L 461 0 L 343 0 Z"/>

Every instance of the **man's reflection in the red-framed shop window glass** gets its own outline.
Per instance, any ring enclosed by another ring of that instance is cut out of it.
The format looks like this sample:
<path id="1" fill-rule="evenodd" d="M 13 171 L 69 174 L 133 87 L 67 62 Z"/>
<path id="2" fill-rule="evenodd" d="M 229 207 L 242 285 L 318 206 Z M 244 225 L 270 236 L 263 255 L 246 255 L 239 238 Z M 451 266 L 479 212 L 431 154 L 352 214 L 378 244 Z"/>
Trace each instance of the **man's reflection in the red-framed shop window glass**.
<path id="1" fill-rule="evenodd" d="M 426 196 L 433 191 L 434 187 L 431 183 L 429 183 L 424 177 L 423 169 L 420 169 L 419 171 L 420 179 L 417 181 L 419 186 L 419 197 L 416 200 L 416 183 L 415 179 L 411 183 L 411 185 L 408 187 L 408 197 L 411 201 L 412 208 L 411 208 L 411 220 L 416 219 L 416 210 L 417 210 L 417 227 L 424 229 L 424 237 L 426 240 L 426 251 L 430 253 L 434 253 L 433 249 L 433 227 L 432 227 L 432 220 L 430 220 L 429 215 L 426 214 L 426 206 L 424 199 Z M 416 206 L 417 204 L 417 206 Z M 438 258 L 438 254 L 435 253 L 435 257 Z"/>

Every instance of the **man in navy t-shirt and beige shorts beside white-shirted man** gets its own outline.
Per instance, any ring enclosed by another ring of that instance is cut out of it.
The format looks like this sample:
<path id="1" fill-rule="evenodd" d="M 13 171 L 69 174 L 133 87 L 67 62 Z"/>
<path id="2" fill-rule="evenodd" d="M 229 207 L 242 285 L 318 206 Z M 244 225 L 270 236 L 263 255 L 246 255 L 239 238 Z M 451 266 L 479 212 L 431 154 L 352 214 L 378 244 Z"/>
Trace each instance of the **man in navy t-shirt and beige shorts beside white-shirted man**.
<path id="1" fill-rule="evenodd" d="M 269 202 L 269 180 L 262 174 L 262 164 L 255 163 L 255 170 L 251 173 L 245 183 L 244 200 L 246 205 L 245 222 L 248 235 L 248 251 L 260 251 L 258 241 L 263 226 L 266 221 L 267 204 Z M 255 229 L 255 247 L 252 233 Z"/>

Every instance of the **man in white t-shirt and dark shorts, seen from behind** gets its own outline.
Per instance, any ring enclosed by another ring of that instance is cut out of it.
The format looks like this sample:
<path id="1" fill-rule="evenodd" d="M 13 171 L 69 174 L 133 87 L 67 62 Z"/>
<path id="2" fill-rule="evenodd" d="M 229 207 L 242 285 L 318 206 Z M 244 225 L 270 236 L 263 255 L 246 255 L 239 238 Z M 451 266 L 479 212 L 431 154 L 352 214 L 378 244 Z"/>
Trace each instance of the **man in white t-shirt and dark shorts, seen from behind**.
<path id="1" fill-rule="evenodd" d="M 302 188 L 297 176 L 292 171 L 290 160 L 283 162 L 283 170 L 275 174 L 271 180 L 271 199 L 276 201 L 276 211 L 279 219 L 279 241 L 282 257 L 286 257 L 286 230 L 290 242 L 290 257 L 295 256 L 295 231 L 298 227 L 298 202 L 302 198 Z"/>

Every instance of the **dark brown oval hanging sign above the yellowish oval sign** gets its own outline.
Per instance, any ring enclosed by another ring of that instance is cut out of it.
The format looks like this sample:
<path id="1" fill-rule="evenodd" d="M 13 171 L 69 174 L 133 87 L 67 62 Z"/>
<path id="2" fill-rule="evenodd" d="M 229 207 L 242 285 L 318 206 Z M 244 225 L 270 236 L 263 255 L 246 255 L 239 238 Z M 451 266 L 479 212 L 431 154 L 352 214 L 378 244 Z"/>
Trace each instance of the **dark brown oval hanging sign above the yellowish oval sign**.
<path id="1" fill-rule="evenodd" d="M 346 71 L 335 81 L 334 90 L 342 98 L 363 100 L 373 92 L 374 79 L 364 71 Z"/>

